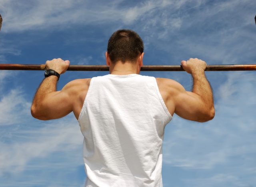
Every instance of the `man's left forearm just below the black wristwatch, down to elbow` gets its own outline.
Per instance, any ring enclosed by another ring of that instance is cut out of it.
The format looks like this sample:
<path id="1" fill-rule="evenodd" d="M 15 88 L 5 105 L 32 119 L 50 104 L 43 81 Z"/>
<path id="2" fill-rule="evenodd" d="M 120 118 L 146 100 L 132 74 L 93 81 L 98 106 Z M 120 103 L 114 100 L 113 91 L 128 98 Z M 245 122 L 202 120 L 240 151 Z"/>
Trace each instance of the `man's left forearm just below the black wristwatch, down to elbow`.
<path id="1" fill-rule="evenodd" d="M 57 76 L 49 76 L 44 78 L 38 90 L 36 91 L 32 102 L 32 107 L 36 108 L 38 105 L 40 105 L 40 102 L 43 101 L 44 97 L 47 94 L 51 92 L 56 92 L 57 81 Z"/>

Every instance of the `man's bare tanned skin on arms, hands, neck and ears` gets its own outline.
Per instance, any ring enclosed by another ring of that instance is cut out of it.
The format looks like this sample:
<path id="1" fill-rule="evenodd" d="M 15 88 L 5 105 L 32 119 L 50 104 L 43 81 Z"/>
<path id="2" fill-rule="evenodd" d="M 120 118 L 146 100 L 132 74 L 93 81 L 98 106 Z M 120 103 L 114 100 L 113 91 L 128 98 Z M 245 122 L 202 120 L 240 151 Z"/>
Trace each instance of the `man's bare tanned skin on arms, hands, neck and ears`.
<path id="1" fill-rule="evenodd" d="M 110 67 L 110 74 L 127 75 L 139 74 L 143 66 L 144 53 L 139 54 L 136 63 L 116 62 L 112 64 L 106 52 L 106 64 Z M 64 74 L 70 62 L 60 58 L 46 61 L 46 68 L 59 74 Z M 171 115 L 176 113 L 180 117 L 192 121 L 205 122 L 214 118 L 215 110 L 210 84 L 205 77 L 206 62 L 197 58 L 181 61 L 181 65 L 192 75 L 192 92 L 175 80 L 156 78 L 158 88 L 166 107 Z M 62 90 L 56 91 L 57 76 L 44 78 L 40 84 L 31 106 L 33 117 L 41 120 L 58 119 L 73 111 L 78 119 L 84 99 L 90 86 L 90 78 L 76 79 L 68 82 Z"/>

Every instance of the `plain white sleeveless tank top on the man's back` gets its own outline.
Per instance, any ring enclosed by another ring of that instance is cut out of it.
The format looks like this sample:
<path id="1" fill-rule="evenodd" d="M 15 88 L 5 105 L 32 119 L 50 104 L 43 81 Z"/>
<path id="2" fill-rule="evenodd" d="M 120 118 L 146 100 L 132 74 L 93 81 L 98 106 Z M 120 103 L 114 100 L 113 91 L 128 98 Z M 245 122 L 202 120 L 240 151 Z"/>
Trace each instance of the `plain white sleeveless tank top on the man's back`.
<path id="1" fill-rule="evenodd" d="M 92 78 L 78 117 L 85 186 L 162 187 L 162 142 L 171 119 L 156 78 Z"/>

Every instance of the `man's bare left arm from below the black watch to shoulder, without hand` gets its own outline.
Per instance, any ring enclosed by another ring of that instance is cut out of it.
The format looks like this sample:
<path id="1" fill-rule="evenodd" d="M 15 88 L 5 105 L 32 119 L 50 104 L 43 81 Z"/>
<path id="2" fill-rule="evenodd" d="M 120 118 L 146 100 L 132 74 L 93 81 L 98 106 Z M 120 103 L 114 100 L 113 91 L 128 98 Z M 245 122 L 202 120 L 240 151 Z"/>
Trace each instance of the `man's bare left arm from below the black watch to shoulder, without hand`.
<path id="1" fill-rule="evenodd" d="M 61 91 L 56 91 L 57 79 L 56 76 L 44 78 L 31 106 L 33 117 L 41 120 L 58 119 L 73 111 L 80 80 L 73 80 L 66 84 Z"/>

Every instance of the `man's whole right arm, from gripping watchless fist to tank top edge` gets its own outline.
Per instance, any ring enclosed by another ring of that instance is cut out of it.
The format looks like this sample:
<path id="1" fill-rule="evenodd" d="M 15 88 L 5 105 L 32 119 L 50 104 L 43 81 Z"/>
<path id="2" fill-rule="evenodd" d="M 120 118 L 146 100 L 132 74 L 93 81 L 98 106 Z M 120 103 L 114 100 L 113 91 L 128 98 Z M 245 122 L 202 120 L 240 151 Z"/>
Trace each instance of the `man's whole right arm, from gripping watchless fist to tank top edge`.
<path id="1" fill-rule="evenodd" d="M 215 110 L 212 89 L 204 74 L 206 62 L 190 58 L 188 61 L 183 60 L 181 64 L 192 75 L 192 92 L 186 91 L 174 80 L 158 78 L 169 111 L 192 121 L 205 122 L 213 119 Z"/>

